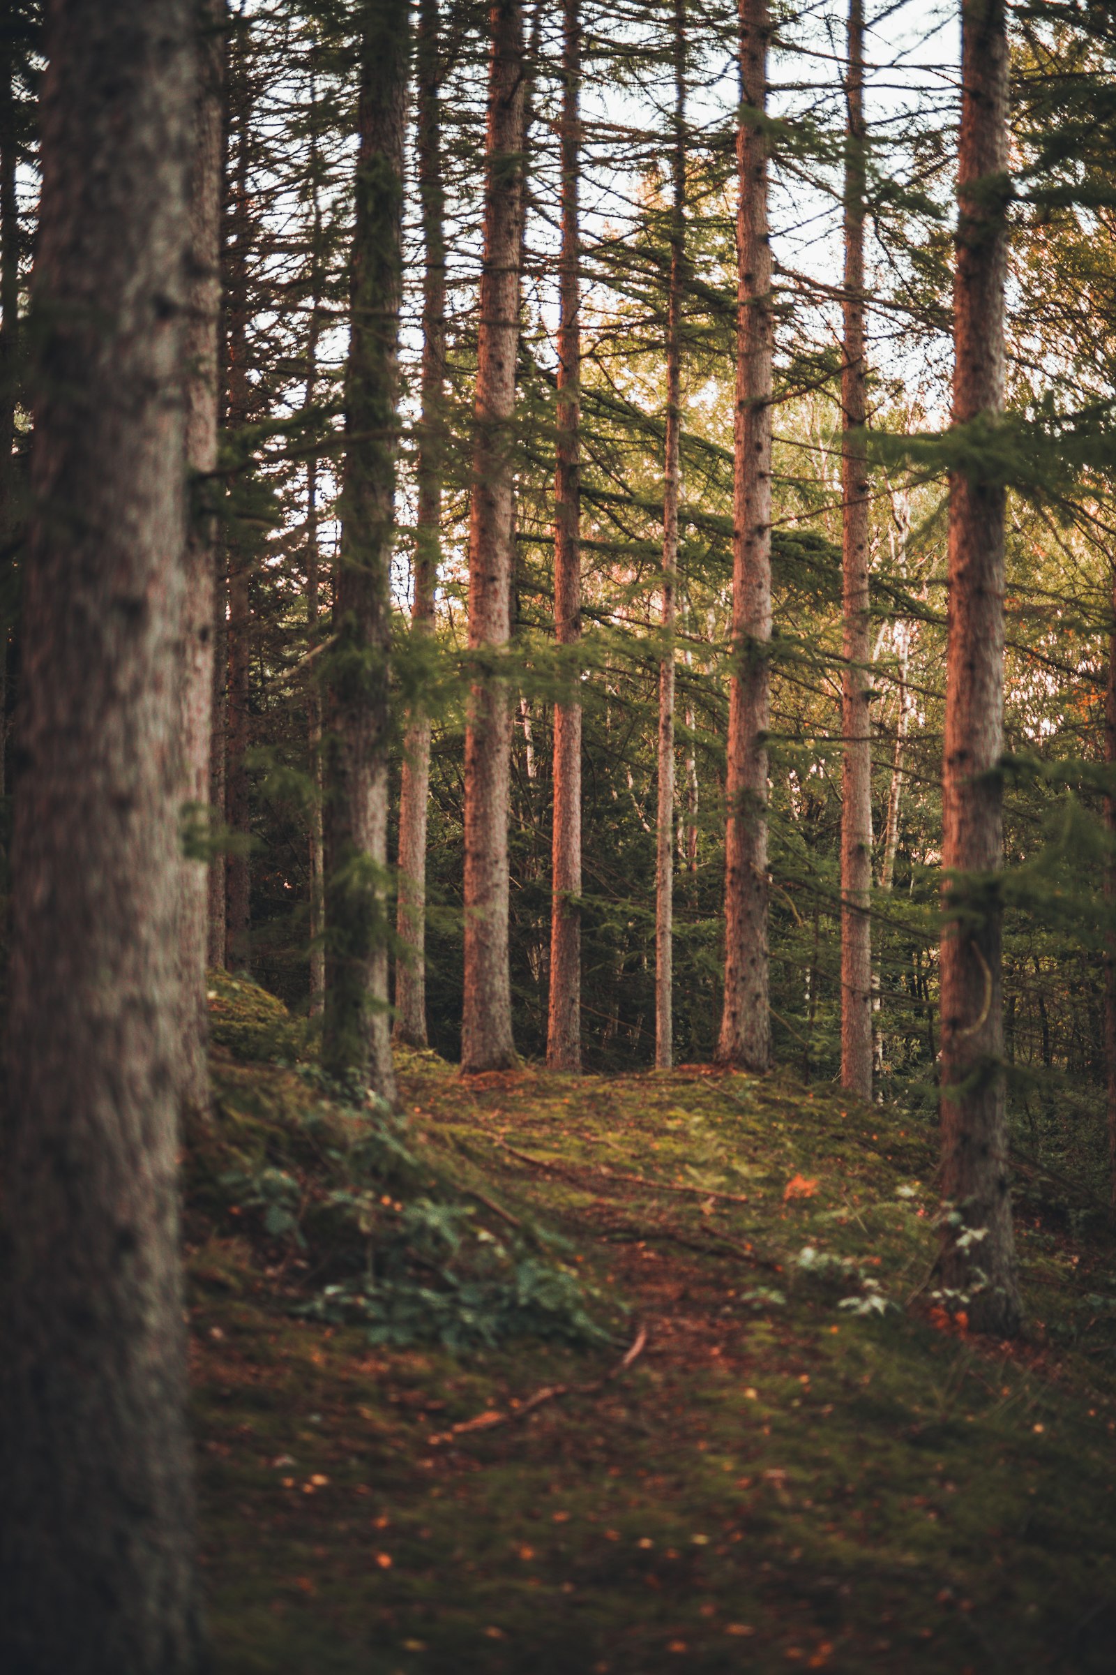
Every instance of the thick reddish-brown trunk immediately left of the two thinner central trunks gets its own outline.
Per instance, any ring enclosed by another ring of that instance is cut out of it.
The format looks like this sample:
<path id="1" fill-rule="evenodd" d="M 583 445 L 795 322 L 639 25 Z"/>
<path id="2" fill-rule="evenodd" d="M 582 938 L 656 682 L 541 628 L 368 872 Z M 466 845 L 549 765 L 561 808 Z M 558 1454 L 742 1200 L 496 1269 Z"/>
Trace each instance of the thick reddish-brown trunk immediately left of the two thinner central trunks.
<path id="1" fill-rule="evenodd" d="M 468 518 L 468 648 L 479 675 L 465 729 L 465 1005 L 462 1069 L 515 1062 L 507 948 L 510 709 L 499 653 L 510 635 L 515 353 L 524 218 L 524 8 L 494 0 L 484 266 Z"/>

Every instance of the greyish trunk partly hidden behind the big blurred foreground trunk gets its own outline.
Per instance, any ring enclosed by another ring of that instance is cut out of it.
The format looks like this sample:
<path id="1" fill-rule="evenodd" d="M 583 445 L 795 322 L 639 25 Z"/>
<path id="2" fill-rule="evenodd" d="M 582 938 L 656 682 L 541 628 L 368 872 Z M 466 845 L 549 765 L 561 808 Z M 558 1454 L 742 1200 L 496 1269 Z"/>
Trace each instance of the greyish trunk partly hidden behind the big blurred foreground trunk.
<path id="1" fill-rule="evenodd" d="M 221 162 L 224 121 L 224 0 L 197 8 L 197 92 L 189 199 L 189 305 L 186 320 L 186 464 L 191 477 L 186 531 L 186 621 L 182 660 L 182 923 L 179 953 L 186 1017 L 182 1042 L 189 1059 L 187 1092 L 194 1111 L 209 1104 L 206 958 L 209 943 L 207 834 L 209 734 L 212 724 L 212 628 L 216 615 L 216 548 L 212 472 L 218 466 L 218 318 L 221 312 Z"/>

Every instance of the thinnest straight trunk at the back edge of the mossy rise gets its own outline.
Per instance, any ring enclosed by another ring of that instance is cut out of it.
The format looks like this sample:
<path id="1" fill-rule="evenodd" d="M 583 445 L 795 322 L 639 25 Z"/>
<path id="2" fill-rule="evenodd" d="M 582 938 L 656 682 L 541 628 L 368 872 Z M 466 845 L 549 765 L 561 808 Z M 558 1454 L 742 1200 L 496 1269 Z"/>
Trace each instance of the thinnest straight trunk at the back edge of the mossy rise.
<path id="1" fill-rule="evenodd" d="M 663 657 L 659 660 L 658 814 L 654 827 L 654 1064 L 674 1062 L 674 625 L 683 459 L 683 265 L 686 261 L 686 0 L 674 0 L 671 276 L 666 300 L 666 459 L 663 471 Z"/>

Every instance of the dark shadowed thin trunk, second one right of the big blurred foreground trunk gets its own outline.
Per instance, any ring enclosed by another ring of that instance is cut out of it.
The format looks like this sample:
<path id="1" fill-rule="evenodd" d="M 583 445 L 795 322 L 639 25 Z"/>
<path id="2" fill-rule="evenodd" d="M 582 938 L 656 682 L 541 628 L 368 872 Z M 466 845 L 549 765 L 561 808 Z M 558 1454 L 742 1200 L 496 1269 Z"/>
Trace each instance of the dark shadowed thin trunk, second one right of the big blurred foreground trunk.
<path id="1" fill-rule="evenodd" d="M 229 238 L 224 248 L 226 312 L 226 429 L 236 432 L 251 417 L 251 380 L 248 377 L 248 243 L 251 216 L 248 201 L 248 154 L 251 119 L 251 77 L 248 67 L 248 28 L 241 5 L 238 25 L 229 37 L 229 119 L 236 122 L 236 174 L 231 183 L 231 206 L 226 213 Z M 234 529 L 234 526 L 233 526 Z M 248 802 L 248 747 L 251 744 L 251 549 L 243 538 L 226 538 L 228 576 L 226 675 L 224 675 L 224 817 L 231 838 L 224 858 L 224 951 L 226 963 L 241 970 L 251 966 L 251 871 L 248 846 L 251 821 Z"/>

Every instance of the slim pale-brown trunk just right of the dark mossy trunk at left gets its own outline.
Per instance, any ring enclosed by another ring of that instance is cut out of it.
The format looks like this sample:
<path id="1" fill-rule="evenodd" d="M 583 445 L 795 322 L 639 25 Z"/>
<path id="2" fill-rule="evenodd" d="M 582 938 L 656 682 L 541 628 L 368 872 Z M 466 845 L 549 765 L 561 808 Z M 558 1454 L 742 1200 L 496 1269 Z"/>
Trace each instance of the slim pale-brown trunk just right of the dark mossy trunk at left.
<path id="1" fill-rule="evenodd" d="M 442 183 L 442 62 L 438 0 L 420 0 L 415 52 L 418 121 L 415 151 L 425 270 L 422 290 L 422 420 L 418 427 L 418 519 L 412 633 L 433 628 L 442 561 L 442 472 L 445 454 L 445 186 Z M 427 1045 L 427 801 L 430 794 L 430 717 L 417 707 L 403 735 L 397 933 L 403 950 L 395 968 L 395 1038 Z"/>

